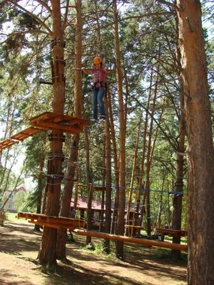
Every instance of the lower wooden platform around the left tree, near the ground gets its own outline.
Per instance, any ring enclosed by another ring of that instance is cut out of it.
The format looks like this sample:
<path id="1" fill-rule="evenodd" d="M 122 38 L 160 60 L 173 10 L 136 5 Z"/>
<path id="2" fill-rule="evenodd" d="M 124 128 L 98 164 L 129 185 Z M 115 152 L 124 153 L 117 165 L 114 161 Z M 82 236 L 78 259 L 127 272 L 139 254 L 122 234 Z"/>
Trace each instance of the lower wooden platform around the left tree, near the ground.
<path id="1" fill-rule="evenodd" d="M 47 216 L 46 214 L 34 214 L 19 212 L 18 219 L 25 218 L 31 224 L 39 224 L 44 227 L 54 227 L 55 229 L 79 229 L 83 227 L 84 221 L 79 219 L 69 219 L 66 217 Z"/>

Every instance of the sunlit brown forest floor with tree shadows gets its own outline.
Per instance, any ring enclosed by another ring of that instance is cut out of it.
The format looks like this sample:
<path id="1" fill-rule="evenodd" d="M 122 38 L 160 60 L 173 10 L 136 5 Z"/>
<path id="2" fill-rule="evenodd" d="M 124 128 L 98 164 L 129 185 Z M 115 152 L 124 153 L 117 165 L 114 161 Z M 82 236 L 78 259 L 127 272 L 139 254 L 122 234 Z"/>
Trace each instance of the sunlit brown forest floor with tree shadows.
<path id="1" fill-rule="evenodd" d="M 47 274 L 36 261 L 41 236 L 41 232 L 34 231 L 34 224 L 24 220 L 7 221 L 4 227 L 0 227 L 1 285 L 187 284 L 186 254 L 183 254 L 183 259 L 175 260 L 170 257 L 168 249 L 125 244 L 126 261 L 121 261 L 114 254 L 89 251 L 84 247 L 86 237 L 76 234 L 75 242 L 66 245 L 69 263 L 58 261 L 58 270 Z M 92 242 L 101 244 L 101 239 L 93 239 Z"/>

